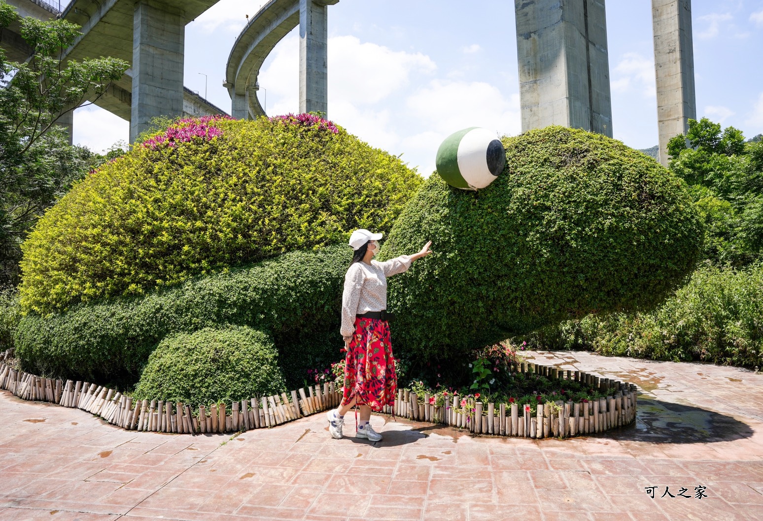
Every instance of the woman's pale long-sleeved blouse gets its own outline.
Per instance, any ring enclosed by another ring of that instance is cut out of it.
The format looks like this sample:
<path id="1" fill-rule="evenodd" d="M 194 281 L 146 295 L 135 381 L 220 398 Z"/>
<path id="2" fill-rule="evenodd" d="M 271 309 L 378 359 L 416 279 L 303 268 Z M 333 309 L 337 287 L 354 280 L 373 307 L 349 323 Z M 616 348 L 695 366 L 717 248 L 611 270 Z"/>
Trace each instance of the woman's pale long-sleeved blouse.
<path id="1" fill-rule="evenodd" d="M 385 262 L 356 262 L 344 276 L 342 294 L 342 336 L 355 332 L 355 317 L 366 311 L 387 309 L 387 277 L 406 272 L 410 268 L 410 256 L 401 255 Z"/>

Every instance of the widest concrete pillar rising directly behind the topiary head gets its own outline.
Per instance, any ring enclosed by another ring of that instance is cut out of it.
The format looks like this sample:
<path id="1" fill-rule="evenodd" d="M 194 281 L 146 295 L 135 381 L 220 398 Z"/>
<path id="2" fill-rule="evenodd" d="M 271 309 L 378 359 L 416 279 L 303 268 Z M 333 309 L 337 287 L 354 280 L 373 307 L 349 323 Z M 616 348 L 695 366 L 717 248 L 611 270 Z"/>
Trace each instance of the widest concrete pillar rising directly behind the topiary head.
<path id="1" fill-rule="evenodd" d="M 522 131 L 551 124 L 612 137 L 604 0 L 514 0 Z"/>

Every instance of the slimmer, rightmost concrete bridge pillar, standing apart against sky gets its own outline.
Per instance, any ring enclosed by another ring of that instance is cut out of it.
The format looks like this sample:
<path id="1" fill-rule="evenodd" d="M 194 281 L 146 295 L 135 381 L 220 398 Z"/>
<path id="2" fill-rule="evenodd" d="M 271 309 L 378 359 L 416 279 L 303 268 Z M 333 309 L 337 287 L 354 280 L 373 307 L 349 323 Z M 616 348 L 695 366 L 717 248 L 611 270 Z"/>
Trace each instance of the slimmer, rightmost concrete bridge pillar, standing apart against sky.
<path id="1" fill-rule="evenodd" d="M 668 166 L 668 141 L 697 119 L 691 0 L 652 0 L 655 39 L 657 125 L 660 162 Z"/>

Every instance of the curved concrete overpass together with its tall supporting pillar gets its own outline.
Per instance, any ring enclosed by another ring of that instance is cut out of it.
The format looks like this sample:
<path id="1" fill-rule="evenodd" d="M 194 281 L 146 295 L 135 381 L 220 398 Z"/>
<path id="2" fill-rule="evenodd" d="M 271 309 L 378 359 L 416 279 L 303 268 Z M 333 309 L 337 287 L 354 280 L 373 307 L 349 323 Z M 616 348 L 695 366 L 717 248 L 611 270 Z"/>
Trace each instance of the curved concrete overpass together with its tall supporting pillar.
<path id="1" fill-rule="evenodd" d="M 230 50 L 225 83 L 236 118 L 265 114 L 256 96 L 262 62 L 289 31 L 300 26 L 300 111 L 327 112 L 327 6 L 339 0 L 270 0 L 246 24 Z"/>

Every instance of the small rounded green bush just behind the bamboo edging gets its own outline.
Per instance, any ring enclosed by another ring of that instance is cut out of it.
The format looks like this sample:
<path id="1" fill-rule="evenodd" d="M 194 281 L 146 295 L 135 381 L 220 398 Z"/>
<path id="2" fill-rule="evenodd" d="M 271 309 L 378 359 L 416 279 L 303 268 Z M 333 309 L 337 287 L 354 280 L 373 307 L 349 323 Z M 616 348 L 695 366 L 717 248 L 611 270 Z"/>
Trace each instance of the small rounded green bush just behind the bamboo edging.
<path id="1" fill-rule="evenodd" d="M 156 347 L 134 397 L 210 404 L 286 390 L 272 338 L 247 326 L 178 333 Z"/>

